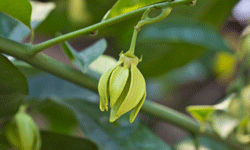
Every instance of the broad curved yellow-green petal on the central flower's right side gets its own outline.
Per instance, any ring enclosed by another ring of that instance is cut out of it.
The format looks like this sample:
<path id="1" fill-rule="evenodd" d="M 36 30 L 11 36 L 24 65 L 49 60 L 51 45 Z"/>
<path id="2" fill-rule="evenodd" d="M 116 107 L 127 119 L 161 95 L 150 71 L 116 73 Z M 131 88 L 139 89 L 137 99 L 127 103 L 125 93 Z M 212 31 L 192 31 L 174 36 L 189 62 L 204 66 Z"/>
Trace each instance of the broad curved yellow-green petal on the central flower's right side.
<path id="1" fill-rule="evenodd" d="M 117 116 L 123 115 L 133 109 L 142 99 L 146 91 L 146 83 L 143 75 L 136 67 L 131 65 L 131 83 L 128 94 L 117 112 Z"/>

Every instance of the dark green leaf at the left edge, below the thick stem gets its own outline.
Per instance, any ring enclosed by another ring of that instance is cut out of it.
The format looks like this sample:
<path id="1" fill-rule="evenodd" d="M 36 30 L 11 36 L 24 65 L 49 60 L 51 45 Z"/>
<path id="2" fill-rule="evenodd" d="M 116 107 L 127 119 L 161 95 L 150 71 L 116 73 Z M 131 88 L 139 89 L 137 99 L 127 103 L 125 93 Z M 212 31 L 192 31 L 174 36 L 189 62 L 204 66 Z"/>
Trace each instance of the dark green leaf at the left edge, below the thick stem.
<path id="1" fill-rule="evenodd" d="M 29 94 L 25 76 L 0 54 L 0 118 L 18 110 L 22 99 Z"/>

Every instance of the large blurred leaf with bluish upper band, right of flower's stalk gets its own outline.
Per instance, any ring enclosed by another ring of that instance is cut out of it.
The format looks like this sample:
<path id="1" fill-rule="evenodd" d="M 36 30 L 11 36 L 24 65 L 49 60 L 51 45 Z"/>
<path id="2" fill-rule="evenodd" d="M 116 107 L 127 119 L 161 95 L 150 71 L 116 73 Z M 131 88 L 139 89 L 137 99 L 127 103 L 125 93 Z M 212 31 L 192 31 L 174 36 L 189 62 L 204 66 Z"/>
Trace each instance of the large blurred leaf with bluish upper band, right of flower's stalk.
<path id="1" fill-rule="evenodd" d="M 138 65 L 143 75 L 152 77 L 216 51 L 229 48 L 214 28 L 190 18 L 175 18 L 145 26 L 135 53 L 143 55 Z"/>

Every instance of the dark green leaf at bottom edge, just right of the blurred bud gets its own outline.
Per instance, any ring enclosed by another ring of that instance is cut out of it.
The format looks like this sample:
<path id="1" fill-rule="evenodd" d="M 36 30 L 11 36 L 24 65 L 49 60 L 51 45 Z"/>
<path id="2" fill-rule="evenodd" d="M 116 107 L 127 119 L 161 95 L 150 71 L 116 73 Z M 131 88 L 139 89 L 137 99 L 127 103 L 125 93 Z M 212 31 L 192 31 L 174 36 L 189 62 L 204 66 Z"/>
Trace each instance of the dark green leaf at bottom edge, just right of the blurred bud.
<path id="1" fill-rule="evenodd" d="M 79 138 L 58 134 L 49 131 L 41 131 L 42 150 L 98 150 L 92 141 L 86 138 Z"/>

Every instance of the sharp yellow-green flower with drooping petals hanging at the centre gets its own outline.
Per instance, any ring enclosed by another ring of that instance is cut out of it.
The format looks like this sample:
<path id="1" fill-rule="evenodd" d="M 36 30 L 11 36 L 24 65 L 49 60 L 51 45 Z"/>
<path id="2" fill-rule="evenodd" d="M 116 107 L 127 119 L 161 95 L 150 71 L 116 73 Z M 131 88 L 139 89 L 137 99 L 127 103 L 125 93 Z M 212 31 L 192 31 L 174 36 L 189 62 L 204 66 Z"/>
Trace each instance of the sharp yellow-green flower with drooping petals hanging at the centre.
<path id="1" fill-rule="evenodd" d="M 125 55 L 121 54 L 117 65 L 99 80 L 100 109 L 108 111 L 110 100 L 110 122 L 133 109 L 129 119 L 132 123 L 146 99 L 145 79 L 137 68 L 140 60 Z"/>

